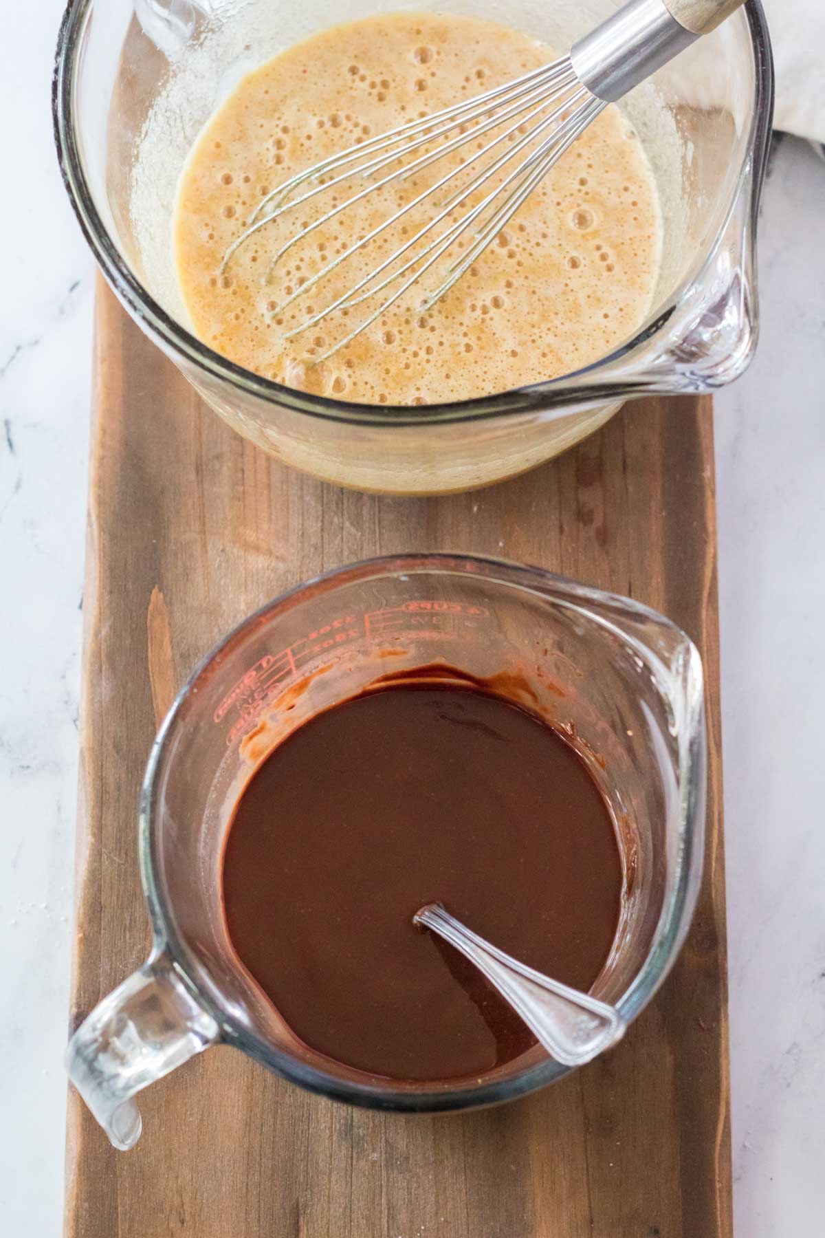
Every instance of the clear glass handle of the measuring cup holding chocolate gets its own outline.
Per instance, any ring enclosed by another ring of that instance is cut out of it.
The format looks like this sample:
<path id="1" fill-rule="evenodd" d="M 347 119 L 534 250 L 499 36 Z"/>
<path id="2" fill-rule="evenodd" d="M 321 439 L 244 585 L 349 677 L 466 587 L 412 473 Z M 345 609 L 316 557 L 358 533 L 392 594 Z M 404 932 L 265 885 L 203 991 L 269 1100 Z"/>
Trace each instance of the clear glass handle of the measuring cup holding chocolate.
<path id="1" fill-rule="evenodd" d="M 94 1008 L 66 1050 L 69 1078 L 115 1148 L 134 1148 L 136 1092 L 214 1044 L 218 1024 L 192 997 L 163 952 Z"/>

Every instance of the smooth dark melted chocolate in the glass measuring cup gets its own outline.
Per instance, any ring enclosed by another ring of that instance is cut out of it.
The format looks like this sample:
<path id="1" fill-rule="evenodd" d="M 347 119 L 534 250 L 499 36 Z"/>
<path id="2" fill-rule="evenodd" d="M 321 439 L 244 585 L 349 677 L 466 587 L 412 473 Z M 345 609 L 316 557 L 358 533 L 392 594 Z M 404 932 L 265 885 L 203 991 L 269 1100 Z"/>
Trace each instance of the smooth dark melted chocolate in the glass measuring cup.
<path id="1" fill-rule="evenodd" d="M 616 932 L 621 860 L 578 753 L 455 683 L 387 685 L 317 714 L 251 777 L 223 869 L 247 971 L 307 1045 L 371 1075 L 480 1076 L 533 1036 L 479 972 L 412 924 L 440 901 L 579 989 Z"/>

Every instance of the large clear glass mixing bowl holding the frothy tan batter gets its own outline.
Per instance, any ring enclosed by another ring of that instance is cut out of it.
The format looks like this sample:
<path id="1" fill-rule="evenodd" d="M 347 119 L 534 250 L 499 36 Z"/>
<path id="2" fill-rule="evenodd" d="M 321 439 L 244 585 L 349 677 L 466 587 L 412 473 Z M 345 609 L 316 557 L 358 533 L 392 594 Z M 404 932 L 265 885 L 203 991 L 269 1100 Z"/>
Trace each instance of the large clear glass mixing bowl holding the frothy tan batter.
<path id="1" fill-rule="evenodd" d="M 472 12 L 566 51 L 618 0 L 476 0 Z M 466 11 L 463 0 L 383 9 Z M 756 344 L 754 235 L 773 106 L 768 33 L 748 0 L 621 106 L 651 158 L 664 215 L 652 313 L 632 339 L 562 379 L 425 407 L 293 391 L 189 329 L 171 220 L 181 168 L 236 82 L 280 50 L 365 16 L 367 0 L 69 0 L 57 48 L 54 130 L 67 189 L 121 302 L 235 430 L 297 468 L 364 490 L 438 493 L 532 468 L 631 396 L 709 391 Z"/>

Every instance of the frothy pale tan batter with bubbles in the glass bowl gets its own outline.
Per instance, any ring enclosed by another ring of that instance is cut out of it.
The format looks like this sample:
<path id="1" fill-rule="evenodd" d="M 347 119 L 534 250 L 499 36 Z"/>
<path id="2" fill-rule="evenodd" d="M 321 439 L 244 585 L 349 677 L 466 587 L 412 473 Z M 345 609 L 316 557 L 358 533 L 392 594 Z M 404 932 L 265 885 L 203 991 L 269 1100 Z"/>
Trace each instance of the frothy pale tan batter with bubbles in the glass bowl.
<path id="1" fill-rule="evenodd" d="M 414 235 L 443 204 L 443 192 L 289 306 L 283 302 L 445 172 L 454 168 L 456 184 L 466 182 L 472 173 L 465 161 L 495 131 L 348 207 L 272 270 L 286 241 L 364 182 L 334 187 L 284 213 L 220 270 L 255 207 L 296 172 L 555 58 L 552 48 L 492 22 L 380 14 L 315 35 L 245 77 L 205 125 L 179 184 L 176 254 L 195 333 L 239 365 L 297 390 L 391 405 L 466 400 L 545 381 L 630 338 L 651 310 L 662 224 L 642 145 L 612 105 L 432 310 L 422 310 L 423 298 L 472 243 L 472 227 L 449 261 L 425 272 L 329 359 L 322 358 L 378 300 L 339 310 L 288 340 L 284 333 Z"/>

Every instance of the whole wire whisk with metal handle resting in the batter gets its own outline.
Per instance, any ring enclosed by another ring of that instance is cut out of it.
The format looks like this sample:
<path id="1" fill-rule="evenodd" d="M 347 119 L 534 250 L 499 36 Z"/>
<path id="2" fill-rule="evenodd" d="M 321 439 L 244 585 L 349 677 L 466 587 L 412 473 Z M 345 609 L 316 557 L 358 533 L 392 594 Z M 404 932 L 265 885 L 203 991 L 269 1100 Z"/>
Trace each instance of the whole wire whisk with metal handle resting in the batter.
<path id="1" fill-rule="evenodd" d="M 414 229 L 413 235 L 344 292 L 320 310 L 309 312 L 282 335 L 283 339 L 293 339 L 338 311 L 346 316 L 356 306 L 378 298 L 375 308 L 367 311 L 357 326 L 327 352 L 313 357 L 315 363 L 328 360 L 375 323 L 442 259 L 447 259 L 449 265 L 439 271 L 435 287 L 425 292 L 418 305 L 419 312 L 425 313 L 472 267 L 609 103 L 622 98 L 742 2 L 630 0 L 579 40 L 562 59 L 322 160 L 262 198 L 247 227 L 224 254 L 220 274 L 241 245 L 288 212 L 315 203 L 322 194 L 348 183 L 366 181 L 362 188 L 345 196 L 344 201 L 335 198 L 329 209 L 322 209 L 320 215 L 304 222 L 277 249 L 263 276 L 265 282 L 270 281 L 293 246 L 369 194 L 414 178 L 437 161 L 454 156 L 448 171 L 434 183 L 403 202 L 365 235 L 356 236 L 320 270 L 299 282 L 286 300 L 272 303 L 270 308 L 272 316 L 282 321 L 283 312 L 299 297 L 398 225 L 411 212 L 429 203 L 433 214 Z M 471 154 L 466 157 L 458 154 L 470 144 L 475 145 Z M 461 180 L 468 172 L 469 178 Z M 456 184 L 456 180 L 460 183 Z M 312 187 L 307 188 L 308 184 Z M 480 199 L 475 201 L 479 194 Z M 461 238 L 470 230 L 468 244 Z M 460 256 L 453 256 L 450 251 L 454 248 L 463 250 Z M 381 297 L 387 290 L 387 296 Z"/>

